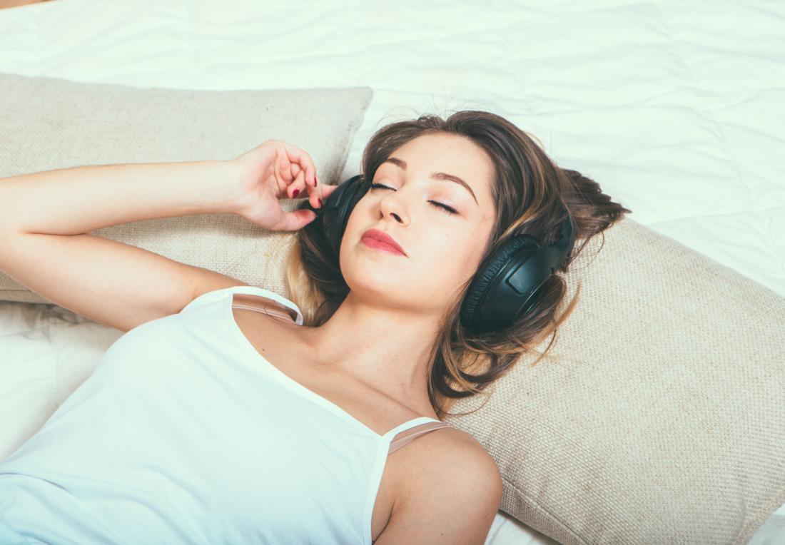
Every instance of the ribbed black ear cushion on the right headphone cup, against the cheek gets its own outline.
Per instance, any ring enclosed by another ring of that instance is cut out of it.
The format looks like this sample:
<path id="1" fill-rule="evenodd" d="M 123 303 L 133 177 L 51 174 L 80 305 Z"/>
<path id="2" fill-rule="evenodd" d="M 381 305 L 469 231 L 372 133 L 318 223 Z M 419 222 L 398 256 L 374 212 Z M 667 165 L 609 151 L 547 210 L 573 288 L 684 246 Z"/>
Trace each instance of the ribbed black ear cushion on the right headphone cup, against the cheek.
<path id="1" fill-rule="evenodd" d="M 496 277 L 506 267 L 509 258 L 522 248 L 531 249 L 531 253 L 535 253 L 540 247 L 537 239 L 531 234 L 517 234 L 507 239 L 501 248 L 491 254 L 487 263 L 474 274 L 472 283 L 466 290 L 466 296 L 461 303 L 461 323 L 464 327 L 481 329 L 482 324 L 487 322 L 487 320 L 480 319 L 480 303 L 491 291 L 491 286 L 495 285 Z M 512 318 L 514 317 L 509 317 L 509 319 Z"/>

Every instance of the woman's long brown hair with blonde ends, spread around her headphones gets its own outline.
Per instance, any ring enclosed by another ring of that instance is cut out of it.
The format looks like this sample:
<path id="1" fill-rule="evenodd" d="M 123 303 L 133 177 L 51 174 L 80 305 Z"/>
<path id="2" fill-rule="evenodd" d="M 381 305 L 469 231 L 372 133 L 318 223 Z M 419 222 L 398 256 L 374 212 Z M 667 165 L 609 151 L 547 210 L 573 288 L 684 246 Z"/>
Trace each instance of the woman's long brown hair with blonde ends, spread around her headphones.
<path id="1" fill-rule="evenodd" d="M 513 234 L 528 233 L 543 245 L 553 243 L 559 236 L 560 199 L 574 220 L 575 245 L 559 271 L 567 271 L 590 238 L 611 227 L 624 213 L 631 213 L 602 193 L 597 182 L 575 170 L 561 169 L 527 133 L 487 111 L 458 111 L 447 119 L 423 114 L 378 129 L 363 151 L 363 183 L 374 179 L 378 166 L 393 151 L 418 136 L 433 133 L 466 136 L 482 147 L 493 162 L 495 226 L 480 267 Z M 307 206 L 305 201 L 299 208 Z M 287 263 L 286 280 L 290 297 L 300 307 L 305 325 L 317 327 L 327 322 L 349 294 L 338 257 L 328 249 L 327 238 L 316 220 L 298 231 Z M 455 400 L 484 391 L 505 375 L 521 354 L 554 334 L 537 362 L 544 358 L 553 346 L 558 326 L 571 314 L 580 292 L 578 285 L 567 310 L 557 317 L 557 307 L 564 299 L 567 285 L 558 274 L 553 274 L 530 313 L 520 316 L 506 329 L 477 333 L 464 328 L 460 321 L 461 303 L 469 283 L 470 280 L 460 291 L 461 296 L 447 309 L 444 326 L 436 336 L 429 358 L 428 394 L 440 420 L 452 414 L 448 411 Z"/>

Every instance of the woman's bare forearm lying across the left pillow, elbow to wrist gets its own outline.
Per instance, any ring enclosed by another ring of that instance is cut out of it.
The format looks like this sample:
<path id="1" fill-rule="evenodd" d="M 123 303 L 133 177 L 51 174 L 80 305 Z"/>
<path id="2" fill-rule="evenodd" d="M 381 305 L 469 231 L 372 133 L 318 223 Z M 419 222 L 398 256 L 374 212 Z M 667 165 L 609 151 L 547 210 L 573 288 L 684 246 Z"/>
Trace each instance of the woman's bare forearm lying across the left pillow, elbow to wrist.
<path id="1" fill-rule="evenodd" d="M 0 178 L 0 233 L 81 234 L 139 220 L 232 213 L 238 168 L 228 161 L 89 165 Z"/>

